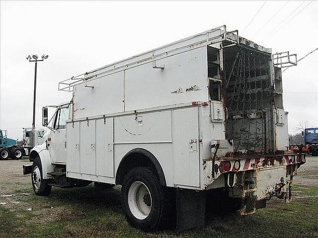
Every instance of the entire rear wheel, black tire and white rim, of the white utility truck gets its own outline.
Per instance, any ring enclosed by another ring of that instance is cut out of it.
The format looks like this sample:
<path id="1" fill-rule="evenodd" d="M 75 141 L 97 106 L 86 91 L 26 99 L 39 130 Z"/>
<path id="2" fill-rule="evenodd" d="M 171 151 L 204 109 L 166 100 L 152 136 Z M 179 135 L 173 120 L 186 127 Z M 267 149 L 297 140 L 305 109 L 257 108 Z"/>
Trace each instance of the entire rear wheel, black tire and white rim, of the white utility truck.
<path id="1" fill-rule="evenodd" d="M 147 167 L 132 169 L 122 184 L 122 206 L 128 223 L 144 231 L 166 228 L 171 203 L 166 188 Z"/>

